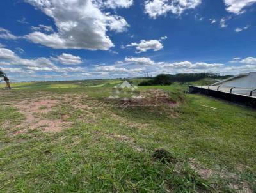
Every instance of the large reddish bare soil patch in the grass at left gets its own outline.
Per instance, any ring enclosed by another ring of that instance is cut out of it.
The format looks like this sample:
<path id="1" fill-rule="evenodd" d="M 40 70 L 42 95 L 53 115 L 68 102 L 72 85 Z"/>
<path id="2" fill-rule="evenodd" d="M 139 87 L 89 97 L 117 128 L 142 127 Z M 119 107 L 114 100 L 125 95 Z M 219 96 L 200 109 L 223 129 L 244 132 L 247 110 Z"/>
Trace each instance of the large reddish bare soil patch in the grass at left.
<path id="1" fill-rule="evenodd" d="M 45 96 L 41 98 L 28 98 L 22 101 L 12 101 L 10 105 L 19 109 L 20 114 L 23 114 L 25 117 L 24 121 L 15 127 L 15 132 L 12 134 L 22 134 L 28 130 L 35 129 L 45 132 L 61 132 L 71 125 L 67 121 L 67 116 L 62 116 L 58 120 L 51 120 L 46 115 L 60 105 L 71 105 L 79 109 L 91 109 L 88 105 L 80 103 L 83 97 L 86 97 L 86 95 L 54 95 L 53 97 Z M 4 123 L 4 127 L 8 127 L 8 122 Z"/>

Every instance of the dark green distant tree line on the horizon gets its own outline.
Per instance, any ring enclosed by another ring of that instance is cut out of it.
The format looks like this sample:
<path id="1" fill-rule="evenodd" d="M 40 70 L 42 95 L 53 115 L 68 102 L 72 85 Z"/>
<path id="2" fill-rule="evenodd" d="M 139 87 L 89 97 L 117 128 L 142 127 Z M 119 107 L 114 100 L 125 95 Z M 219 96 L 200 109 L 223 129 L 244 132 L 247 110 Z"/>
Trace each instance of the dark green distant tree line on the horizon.
<path id="1" fill-rule="evenodd" d="M 170 85 L 173 82 L 192 82 L 204 79 L 207 77 L 220 77 L 218 73 L 177 73 L 177 74 L 159 74 L 149 81 L 140 82 L 140 86 L 149 85 Z"/>

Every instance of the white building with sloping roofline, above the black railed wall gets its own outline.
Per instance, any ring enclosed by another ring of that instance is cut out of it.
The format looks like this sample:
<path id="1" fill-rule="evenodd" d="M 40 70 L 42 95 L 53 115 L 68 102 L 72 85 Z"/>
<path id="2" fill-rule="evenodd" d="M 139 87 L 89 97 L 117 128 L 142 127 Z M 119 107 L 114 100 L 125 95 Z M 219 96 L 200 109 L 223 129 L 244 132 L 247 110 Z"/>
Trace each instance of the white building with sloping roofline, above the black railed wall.
<path id="1" fill-rule="evenodd" d="M 237 88 L 256 89 L 256 72 L 240 73 L 223 81 L 216 82 L 212 86 L 230 86 Z"/>

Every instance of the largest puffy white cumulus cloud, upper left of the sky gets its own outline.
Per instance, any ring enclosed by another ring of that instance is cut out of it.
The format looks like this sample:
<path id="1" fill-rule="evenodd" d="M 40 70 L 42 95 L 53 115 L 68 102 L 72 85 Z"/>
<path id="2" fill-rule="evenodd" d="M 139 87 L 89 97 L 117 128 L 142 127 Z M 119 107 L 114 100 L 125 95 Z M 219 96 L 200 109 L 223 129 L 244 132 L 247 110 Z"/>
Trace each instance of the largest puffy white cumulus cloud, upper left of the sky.
<path id="1" fill-rule="evenodd" d="M 26 38 L 54 49 L 108 50 L 114 44 L 106 35 L 107 31 L 122 32 L 129 26 L 123 17 L 104 12 L 106 6 L 100 8 L 99 3 L 92 0 L 26 0 L 26 2 L 51 17 L 58 29 L 50 34 L 35 31 L 26 35 Z M 102 2 L 115 8 L 128 7 L 125 4 L 122 6 L 122 0 Z"/>

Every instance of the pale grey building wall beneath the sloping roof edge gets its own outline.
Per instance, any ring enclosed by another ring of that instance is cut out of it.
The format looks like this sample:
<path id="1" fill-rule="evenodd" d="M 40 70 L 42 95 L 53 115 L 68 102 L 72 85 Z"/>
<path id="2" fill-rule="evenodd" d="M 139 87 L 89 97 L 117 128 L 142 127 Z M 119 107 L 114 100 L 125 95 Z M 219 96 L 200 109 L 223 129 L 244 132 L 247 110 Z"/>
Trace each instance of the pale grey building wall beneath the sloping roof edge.
<path id="1" fill-rule="evenodd" d="M 223 82 L 223 86 L 255 88 L 256 89 L 256 72 L 250 72 L 248 76 L 240 77 L 231 81 Z"/>

